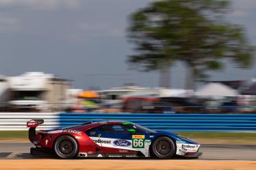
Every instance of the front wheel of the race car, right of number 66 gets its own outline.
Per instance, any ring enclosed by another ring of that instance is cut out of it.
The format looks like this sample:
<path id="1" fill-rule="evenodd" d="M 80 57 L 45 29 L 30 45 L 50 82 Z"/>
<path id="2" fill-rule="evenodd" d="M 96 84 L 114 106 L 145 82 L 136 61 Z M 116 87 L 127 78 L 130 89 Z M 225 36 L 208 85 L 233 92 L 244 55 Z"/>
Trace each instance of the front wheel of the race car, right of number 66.
<path id="1" fill-rule="evenodd" d="M 155 158 L 172 158 L 176 154 L 176 145 L 168 137 L 158 137 L 152 143 L 151 153 Z"/>

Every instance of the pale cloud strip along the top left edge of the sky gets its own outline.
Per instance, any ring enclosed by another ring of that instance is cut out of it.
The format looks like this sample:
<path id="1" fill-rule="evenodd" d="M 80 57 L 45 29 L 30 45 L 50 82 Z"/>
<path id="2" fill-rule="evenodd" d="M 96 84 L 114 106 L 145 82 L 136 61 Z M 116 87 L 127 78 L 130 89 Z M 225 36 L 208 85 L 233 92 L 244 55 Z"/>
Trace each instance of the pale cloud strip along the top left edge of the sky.
<path id="1" fill-rule="evenodd" d="M 81 0 L 0 0 L 0 7 L 22 7 L 34 10 L 77 9 Z"/>

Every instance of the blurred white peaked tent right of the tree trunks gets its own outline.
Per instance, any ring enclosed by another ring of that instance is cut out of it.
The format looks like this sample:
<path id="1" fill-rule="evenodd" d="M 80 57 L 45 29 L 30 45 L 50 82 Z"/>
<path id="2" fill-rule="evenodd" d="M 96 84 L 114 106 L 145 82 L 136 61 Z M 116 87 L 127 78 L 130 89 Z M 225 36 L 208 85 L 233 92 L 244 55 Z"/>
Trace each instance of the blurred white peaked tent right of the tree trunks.
<path id="1" fill-rule="evenodd" d="M 238 96 L 238 91 L 222 83 L 208 83 L 196 91 L 196 96 L 232 97 Z"/>

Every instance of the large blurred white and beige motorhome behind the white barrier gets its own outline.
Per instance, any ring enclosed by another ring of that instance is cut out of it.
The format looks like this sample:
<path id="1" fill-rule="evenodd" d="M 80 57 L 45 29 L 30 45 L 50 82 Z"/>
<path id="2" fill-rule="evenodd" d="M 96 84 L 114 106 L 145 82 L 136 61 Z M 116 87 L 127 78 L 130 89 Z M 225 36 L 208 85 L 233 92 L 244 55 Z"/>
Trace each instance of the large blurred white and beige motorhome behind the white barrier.
<path id="1" fill-rule="evenodd" d="M 8 77 L 12 111 L 64 111 L 70 81 L 53 74 L 26 72 Z"/>

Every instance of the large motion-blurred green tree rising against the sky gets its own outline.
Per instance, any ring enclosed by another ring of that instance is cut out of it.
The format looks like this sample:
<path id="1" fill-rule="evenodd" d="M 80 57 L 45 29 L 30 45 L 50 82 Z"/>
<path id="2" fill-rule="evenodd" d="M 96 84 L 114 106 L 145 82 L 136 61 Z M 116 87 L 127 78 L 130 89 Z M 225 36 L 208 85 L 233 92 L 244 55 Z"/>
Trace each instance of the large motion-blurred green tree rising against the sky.
<path id="1" fill-rule="evenodd" d="M 142 71 L 169 72 L 172 63 L 182 61 L 188 68 L 188 89 L 207 79 L 208 70 L 221 69 L 225 58 L 248 68 L 253 47 L 240 25 L 223 18 L 227 12 L 227 0 L 164 0 L 139 9 L 130 17 L 128 38 L 136 54 L 129 63 Z M 168 87 L 168 78 L 162 82 Z"/>

